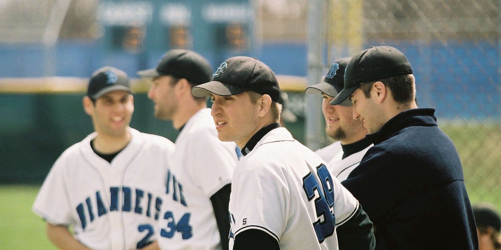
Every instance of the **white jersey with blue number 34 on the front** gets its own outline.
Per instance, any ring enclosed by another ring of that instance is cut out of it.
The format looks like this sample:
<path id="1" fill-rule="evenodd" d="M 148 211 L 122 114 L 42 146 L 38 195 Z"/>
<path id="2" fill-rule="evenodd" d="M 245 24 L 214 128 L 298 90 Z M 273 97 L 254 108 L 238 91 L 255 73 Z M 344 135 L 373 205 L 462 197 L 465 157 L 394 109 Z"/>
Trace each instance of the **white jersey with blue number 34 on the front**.
<path id="1" fill-rule="evenodd" d="M 210 196 L 231 183 L 237 162 L 236 144 L 217 138 L 210 108 L 186 122 L 176 139 L 159 223 L 162 249 L 221 248 Z"/>

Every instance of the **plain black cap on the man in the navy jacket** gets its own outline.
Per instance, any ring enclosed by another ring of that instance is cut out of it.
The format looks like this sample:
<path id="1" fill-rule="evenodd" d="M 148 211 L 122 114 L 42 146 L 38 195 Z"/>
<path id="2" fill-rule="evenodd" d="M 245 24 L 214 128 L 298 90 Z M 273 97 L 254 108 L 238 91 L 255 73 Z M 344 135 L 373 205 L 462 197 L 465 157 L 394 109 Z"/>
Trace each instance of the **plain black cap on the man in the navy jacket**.
<path id="1" fill-rule="evenodd" d="M 372 46 L 351 58 L 346 66 L 344 88 L 331 101 L 337 105 L 365 82 L 399 74 L 411 74 L 412 67 L 400 50 L 390 46 Z"/>

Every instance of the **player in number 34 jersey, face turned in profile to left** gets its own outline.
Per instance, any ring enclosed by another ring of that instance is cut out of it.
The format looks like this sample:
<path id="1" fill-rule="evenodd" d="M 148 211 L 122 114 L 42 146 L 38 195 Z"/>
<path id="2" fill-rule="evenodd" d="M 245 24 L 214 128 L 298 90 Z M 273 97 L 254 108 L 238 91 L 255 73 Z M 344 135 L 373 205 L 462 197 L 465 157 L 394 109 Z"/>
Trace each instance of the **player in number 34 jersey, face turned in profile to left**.
<path id="1" fill-rule="evenodd" d="M 227 249 L 231 176 L 240 151 L 217 138 L 207 97 L 191 94 L 193 86 L 210 80 L 209 63 L 193 51 L 173 49 L 156 68 L 138 73 L 153 80 L 148 97 L 155 116 L 180 130 L 160 218 L 160 247 Z"/>

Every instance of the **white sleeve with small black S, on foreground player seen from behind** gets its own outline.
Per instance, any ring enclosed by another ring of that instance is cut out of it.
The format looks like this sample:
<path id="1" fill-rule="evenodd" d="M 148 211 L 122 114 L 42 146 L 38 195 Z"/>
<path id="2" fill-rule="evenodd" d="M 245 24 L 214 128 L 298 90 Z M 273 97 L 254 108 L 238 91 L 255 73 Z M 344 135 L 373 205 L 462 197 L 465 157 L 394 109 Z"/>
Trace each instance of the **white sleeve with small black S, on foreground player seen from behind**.
<path id="1" fill-rule="evenodd" d="M 290 190 L 283 169 L 274 165 L 247 162 L 246 169 L 235 175 L 230 201 L 233 234 L 259 229 L 280 241 L 289 217 Z"/>

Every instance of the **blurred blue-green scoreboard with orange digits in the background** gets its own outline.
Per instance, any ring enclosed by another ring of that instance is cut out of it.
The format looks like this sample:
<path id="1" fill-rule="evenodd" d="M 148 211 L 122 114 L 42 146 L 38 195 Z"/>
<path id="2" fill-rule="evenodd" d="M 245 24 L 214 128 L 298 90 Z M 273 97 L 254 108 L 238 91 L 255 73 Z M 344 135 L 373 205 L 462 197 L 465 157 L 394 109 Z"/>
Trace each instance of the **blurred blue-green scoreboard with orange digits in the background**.
<path id="1" fill-rule="evenodd" d="M 101 0 L 98 17 L 107 50 L 244 52 L 253 43 L 249 0 Z"/>

